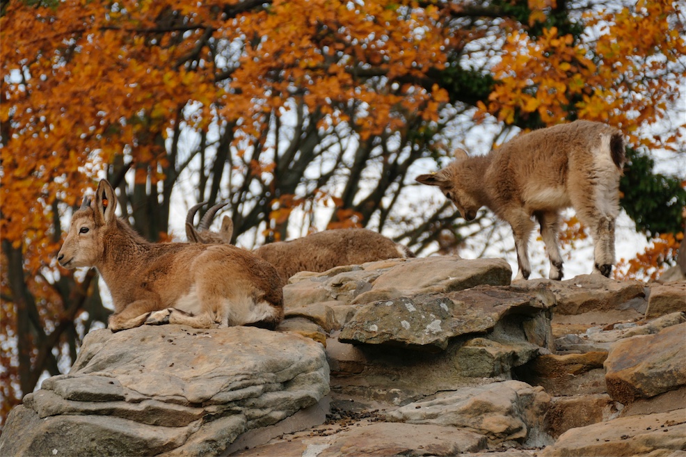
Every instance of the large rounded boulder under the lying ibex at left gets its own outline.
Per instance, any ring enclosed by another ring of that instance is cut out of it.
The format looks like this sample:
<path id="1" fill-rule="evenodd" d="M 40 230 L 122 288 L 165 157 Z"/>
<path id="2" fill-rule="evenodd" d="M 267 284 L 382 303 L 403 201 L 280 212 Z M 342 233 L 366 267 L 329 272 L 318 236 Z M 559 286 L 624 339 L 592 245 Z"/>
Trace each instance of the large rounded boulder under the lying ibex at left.
<path id="1" fill-rule="evenodd" d="M 2 456 L 216 456 L 329 390 L 321 344 L 259 328 L 95 330 L 70 374 L 24 397 Z"/>

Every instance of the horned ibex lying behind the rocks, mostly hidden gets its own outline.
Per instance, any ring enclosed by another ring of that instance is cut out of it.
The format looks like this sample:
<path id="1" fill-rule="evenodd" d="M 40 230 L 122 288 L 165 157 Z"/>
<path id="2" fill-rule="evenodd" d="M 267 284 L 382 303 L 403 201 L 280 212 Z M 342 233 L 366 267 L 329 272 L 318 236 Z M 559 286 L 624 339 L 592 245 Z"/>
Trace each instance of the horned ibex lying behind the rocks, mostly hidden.
<path id="1" fill-rule="evenodd" d="M 202 204 L 200 204 L 202 206 Z M 200 230 L 193 228 L 193 215 L 196 205 L 189 209 L 186 216 L 186 235 L 193 243 L 229 243 L 232 236 L 232 225 L 222 222 L 219 234 L 207 230 L 216 211 L 207 218 L 212 207 L 200 223 Z M 190 222 L 189 222 L 190 221 Z M 227 228 L 230 227 L 230 228 Z M 253 251 L 257 257 L 266 260 L 276 268 L 284 282 L 300 271 L 327 271 L 335 266 L 359 265 L 376 260 L 415 257 L 405 246 L 395 243 L 382 234 L 367 229 L 326 230 L 294 239 L 269 243 Z"/>

